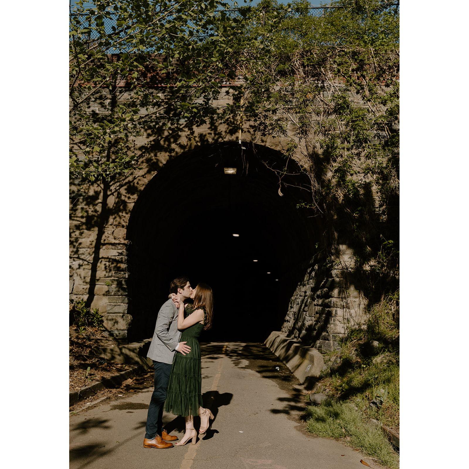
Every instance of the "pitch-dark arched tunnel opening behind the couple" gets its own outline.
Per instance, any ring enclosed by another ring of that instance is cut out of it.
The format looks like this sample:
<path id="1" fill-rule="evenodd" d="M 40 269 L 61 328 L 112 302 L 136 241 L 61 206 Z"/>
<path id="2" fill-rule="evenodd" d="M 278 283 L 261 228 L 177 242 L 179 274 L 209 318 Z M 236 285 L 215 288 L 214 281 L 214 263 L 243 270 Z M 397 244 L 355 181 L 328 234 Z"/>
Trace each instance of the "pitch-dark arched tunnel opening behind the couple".
<path id="1" fill-rule="evenodd" d="M 262 342 L 280 330 L 305 263 L 313 221 L 296 205 L 306 190 L 294 160 L 264 146 L 200 147 L 168 161 L 147 184 L 129 228 L 129 340 L 150 338 L 169 284 L 188 275 L 213 289 L 204 341 Z M 235 167 L 236 174 L 225 174 Z M 238 234 L 239 236 L 233 236 Z"/>

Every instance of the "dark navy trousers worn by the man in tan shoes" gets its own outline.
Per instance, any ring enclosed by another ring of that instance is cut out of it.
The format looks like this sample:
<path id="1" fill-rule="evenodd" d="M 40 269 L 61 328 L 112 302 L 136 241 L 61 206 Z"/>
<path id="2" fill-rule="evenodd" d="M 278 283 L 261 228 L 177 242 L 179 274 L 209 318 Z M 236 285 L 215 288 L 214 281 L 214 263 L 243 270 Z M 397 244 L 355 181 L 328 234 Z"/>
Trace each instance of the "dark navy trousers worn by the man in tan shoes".
<path id="1" fill-rule="evenodd" d="M 155 389 L 153 394 L 151 394 L 145 428 L 145 438 L 148 439 L 155 438 L 157 433 L 161 436 L 161 430 L 163 429 L 163 406 L 166 401 L 166 390 L 168 389 L 172 365 L 153 360 L 153 366 L 155 368 Z"/>

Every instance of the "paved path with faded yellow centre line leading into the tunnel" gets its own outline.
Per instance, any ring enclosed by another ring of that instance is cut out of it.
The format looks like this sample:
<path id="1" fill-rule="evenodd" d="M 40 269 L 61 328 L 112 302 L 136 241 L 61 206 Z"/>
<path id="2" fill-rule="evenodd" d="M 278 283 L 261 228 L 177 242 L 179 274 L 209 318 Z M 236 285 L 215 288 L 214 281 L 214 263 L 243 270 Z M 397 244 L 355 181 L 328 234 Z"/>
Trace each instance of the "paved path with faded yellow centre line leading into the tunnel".
<path id="1" fill-rule="evenodd" d="M 363 469 L 360 459 L 379 468 L 340 442 L 303 430 L 301 387 L 263 345 L 207 344 L 202 354 L 204 406 L 215 419 L 197 445 L 142 446 L 149 388 L 70 416 L 70 469 Z M 163 418 L 181 437 L 183 418 Z"/>

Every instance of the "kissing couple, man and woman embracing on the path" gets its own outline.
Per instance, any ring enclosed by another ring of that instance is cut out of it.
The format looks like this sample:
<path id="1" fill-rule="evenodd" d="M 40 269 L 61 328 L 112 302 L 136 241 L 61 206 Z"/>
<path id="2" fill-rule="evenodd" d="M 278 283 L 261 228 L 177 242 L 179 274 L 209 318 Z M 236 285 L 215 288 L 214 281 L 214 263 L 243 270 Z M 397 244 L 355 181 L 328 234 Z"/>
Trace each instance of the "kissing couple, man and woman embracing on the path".
<path id="1" fill-rule="evenodd" d="M 151 394 L 144 448 L 171 448 L 177 440 L 163 428 L 166 412 L 184 416 L 186 432 L 176 446 L 197 442 L 194 415 L 200 416 L 199 433 L 207 431 L 212 412 L 202 407 L 202 364 L 197 340 L 212 327 L 212 288 L 204 283 L 190 286 L 187 277 L 171 282 L 169 299 L 161 306 L 147 357 L 153 360 L 155 389 Z M 189 299 L 193 303 L 185 303 Z M 176 353 L 177 352 L 177 353 Z M 166 401 L 166 405 L 165 405 Z"/>

